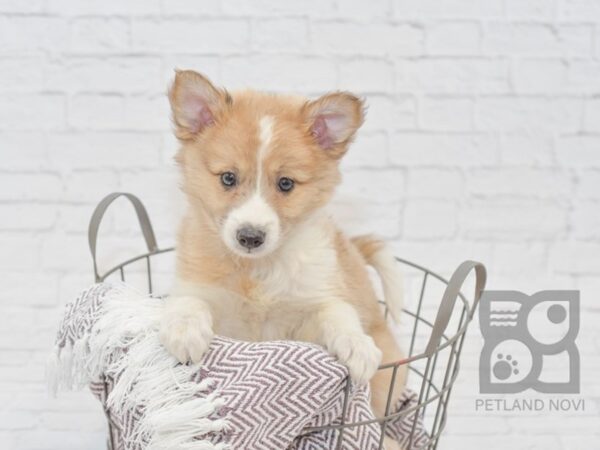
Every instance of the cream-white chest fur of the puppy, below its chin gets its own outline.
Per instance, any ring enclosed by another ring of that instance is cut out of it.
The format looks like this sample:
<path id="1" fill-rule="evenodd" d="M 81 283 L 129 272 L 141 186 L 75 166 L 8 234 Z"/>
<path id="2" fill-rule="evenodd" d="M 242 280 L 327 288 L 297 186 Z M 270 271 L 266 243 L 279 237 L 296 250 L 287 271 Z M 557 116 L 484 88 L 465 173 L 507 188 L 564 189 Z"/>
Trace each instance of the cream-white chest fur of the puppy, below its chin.
<path id="1" fill-rule="evenodd" d="M 172 295 L 194 295 L 210 305 L 214 331 L 243 340 L 290 339 L 318 303 L 339 293 L 342 275 L 335 227 L 318 217 L 297 228 L 272 257 L 247 272 L 248 296 L 226 286 L 177 280 Z"/>

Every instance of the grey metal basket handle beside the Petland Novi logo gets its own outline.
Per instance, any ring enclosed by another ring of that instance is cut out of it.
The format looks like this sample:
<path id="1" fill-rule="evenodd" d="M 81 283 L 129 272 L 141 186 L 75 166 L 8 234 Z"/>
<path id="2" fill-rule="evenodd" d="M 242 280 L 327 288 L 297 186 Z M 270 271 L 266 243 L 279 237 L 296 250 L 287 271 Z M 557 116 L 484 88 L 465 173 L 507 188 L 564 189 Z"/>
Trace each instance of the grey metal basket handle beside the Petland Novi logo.
<path id="1" fill-rule="evenodd" d="M 472 270 L 475 271 L 475 294 L 473 297 L 473 305 L 469 311 L 469 318 L 473 316 L 473 313 L 477 308 L 477 304 L 479 303 L 479 299 L 481 298 L 483 288 L 485 287 L 486 270 L 485 266 L 480 262 L 465 261 L 458 266 L 458 268 L 452 274 L 452 277 L 450 277 L 450 281 L 448 281 L 448 285 L 446 286 L 446 290 L 442 296 L 442 303 L 440 304 L 435 322 L 433 324 L 433 330 L 431 331 L 429 342 L 427 343 L 427 348 L 425 349 L 425 354 L 427 356 L 433 355 L 439 346 L 442 335 L 446 331 L 446 327 L 450 322 L 450 317 L 452 316 L 454 304 L 456 303 L 460 289 Z"/>

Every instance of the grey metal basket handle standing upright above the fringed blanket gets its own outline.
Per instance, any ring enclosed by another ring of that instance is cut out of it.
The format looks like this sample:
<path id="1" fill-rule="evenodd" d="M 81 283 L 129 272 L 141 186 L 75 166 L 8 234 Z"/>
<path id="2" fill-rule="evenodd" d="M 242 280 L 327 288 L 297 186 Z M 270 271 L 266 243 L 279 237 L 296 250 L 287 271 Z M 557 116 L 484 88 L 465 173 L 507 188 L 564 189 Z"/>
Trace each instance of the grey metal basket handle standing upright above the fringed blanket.
<path id="1" fill-rule="evenodd" d="M 146 241 L 146 247 L 148 248 L 148 252 L 152 253 L 158 250 L 158 245 L 156 244 L 156 237 L 154 236 L 154 230 L 152 229 L 152 224 L 150 223 L 148 212 L 146 211 L 146 207 L 141 202 L 141 200 L 135 195 L 130 194 L 128 192 L 113 192 L 112 194 L 108 194 L 100 201 L 100 203 L 98 203 L 98 206 L 96 206 L 96 209 L 92 214 L 92 218 L 90 219 L 90 224 L 88 226 L 88 242 L 90 244 L 90 253 L 92 254 L 92 261 L 94 263 L 94 276 L 96 277 L 96 282 L 100 280 L 100 274 L 98 273 L 98 264 L 96 262 L 96 244 L 98 242 L 98 229 L 100 228 L 100 224 L 102 223 L 104 213 L 112 204 L 112 202 L 114 202 L 119 197 L 125 197 L 131 202 L 131 204 L 135 208 L 135 213 L 137 215 L 138 221 L 140 222 L 140 227 L 142 228 L 142 233 L 144 235 L 144 240 Z"/>

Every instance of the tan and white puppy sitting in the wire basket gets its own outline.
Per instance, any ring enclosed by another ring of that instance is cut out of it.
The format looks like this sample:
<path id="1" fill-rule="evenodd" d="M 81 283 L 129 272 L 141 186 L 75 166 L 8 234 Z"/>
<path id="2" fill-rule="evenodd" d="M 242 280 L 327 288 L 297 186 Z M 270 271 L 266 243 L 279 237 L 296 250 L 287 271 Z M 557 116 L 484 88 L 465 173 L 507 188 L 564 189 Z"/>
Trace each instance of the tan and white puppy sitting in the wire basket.
<path id="1" fill-rule="evenodd" d="M 366 265 L 378 271 L 397 319 L 397 263 L 376 239 L 349 240 L 323 211 L 363 122 L 361 100 L 346 92 L 313 101 L 229 94 L 193 71 L 176 73 L 169 99 L 189 206 L 161 323 L 164 346 L 197 362 L 215 333 L 319 344 L 356 383 L 372 380 L 382 415 L 391 370 L 376 374 L 377 367 L 402 354 Z M 399 373 L 396 395 L 403 385 Z"/>

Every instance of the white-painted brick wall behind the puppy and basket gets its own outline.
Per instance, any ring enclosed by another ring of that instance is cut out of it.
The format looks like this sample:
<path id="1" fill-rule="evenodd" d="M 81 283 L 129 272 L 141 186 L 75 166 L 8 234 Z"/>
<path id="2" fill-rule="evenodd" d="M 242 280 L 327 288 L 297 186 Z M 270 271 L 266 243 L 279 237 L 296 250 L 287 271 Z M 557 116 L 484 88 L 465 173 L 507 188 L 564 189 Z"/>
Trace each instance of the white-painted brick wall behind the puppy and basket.
<path id="1" fill-rule="evenodd" d="M 140 195 L 173 242 L 174 67 L 365 96 L 336 201 L 351 230 L 445 274 L 479 259 L 492 288 L 581 289 L 586 413 L 476 413 L 474 327 L 441 448 L 598 447 L 599 1 L 0 0 L 0 448 L 103 448 L 96 402 L 48 399 L 43 363 L 103 194 Z M 104 262 L 142 247 L 116 210 Z"/>

